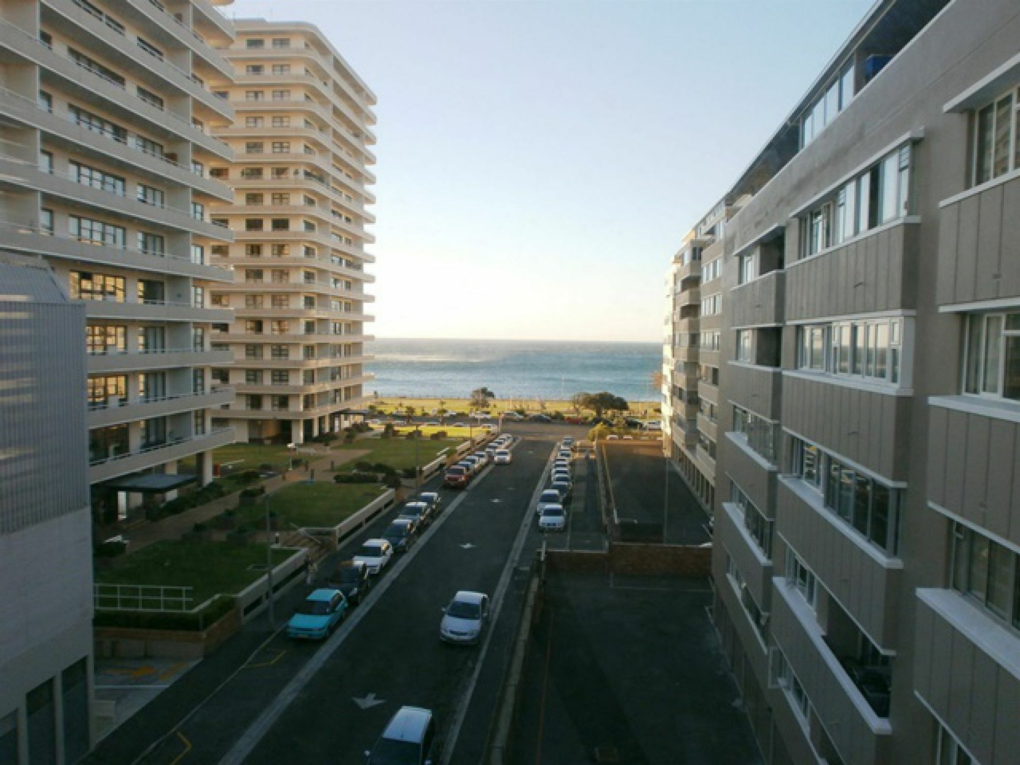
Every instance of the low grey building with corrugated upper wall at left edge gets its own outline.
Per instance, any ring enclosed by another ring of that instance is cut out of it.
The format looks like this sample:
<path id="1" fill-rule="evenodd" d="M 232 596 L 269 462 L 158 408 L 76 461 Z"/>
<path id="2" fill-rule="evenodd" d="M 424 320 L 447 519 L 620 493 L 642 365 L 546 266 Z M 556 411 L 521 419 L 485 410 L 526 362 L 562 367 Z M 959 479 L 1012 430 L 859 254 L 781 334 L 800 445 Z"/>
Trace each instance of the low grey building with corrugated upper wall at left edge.
<path id="1" fill-rule="evenodd" d="M 38 258 L 0 286 L 0 762 L 62 765 L 91 738 L 86 310 Z"/>

